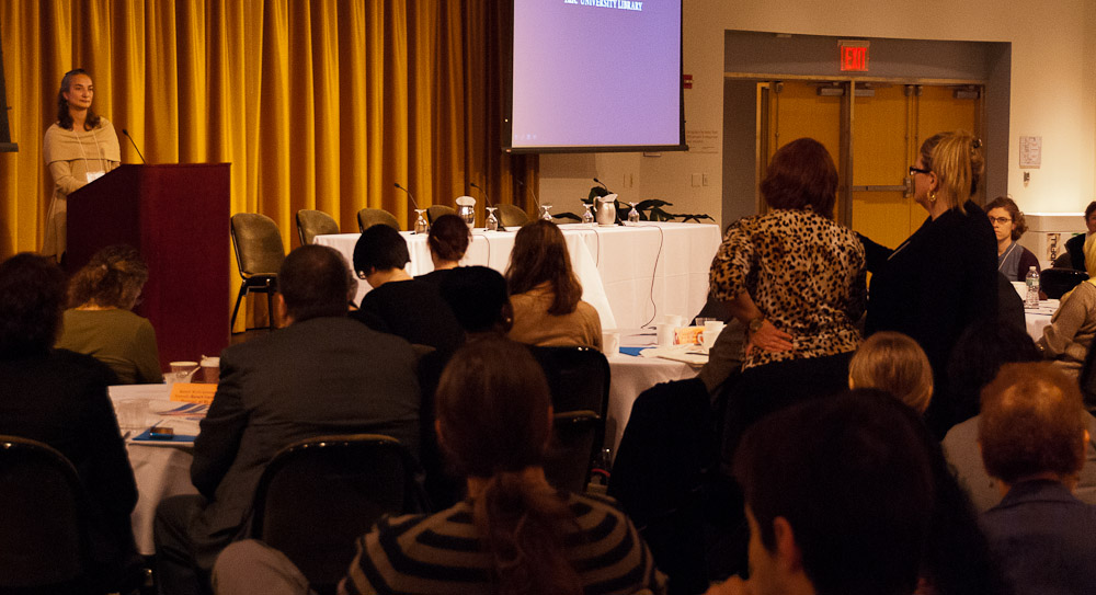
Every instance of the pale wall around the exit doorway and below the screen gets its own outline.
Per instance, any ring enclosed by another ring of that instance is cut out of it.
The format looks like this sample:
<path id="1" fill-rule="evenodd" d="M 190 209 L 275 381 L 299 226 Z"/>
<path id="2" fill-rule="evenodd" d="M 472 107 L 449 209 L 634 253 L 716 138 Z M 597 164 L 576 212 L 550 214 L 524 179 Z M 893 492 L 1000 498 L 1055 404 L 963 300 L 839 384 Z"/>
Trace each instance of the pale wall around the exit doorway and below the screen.
<path id="1" fill-rule="evenodd" d="M 1043 213 L 1075 213 L 1096 198 L 1096 0 L 684 0 L 684 9 L 687 134 L 722 133 L 727 30 L 1011 42 L 1009 193 L 1021 209 Z M 1042 137 L 1040 169 L 1020 170 L 1021 135 Z M 663 198 L 672 210 L 719 220 L 721 138 L 713 145 L 705 155 L 543 156 L 543 199 L 570 204 L 597 176 L 623 199 Z M 709 185 L 693 187 L 693 173 L 707 174 Z M 627 175 L 630 188 L 621 187 Z"/>

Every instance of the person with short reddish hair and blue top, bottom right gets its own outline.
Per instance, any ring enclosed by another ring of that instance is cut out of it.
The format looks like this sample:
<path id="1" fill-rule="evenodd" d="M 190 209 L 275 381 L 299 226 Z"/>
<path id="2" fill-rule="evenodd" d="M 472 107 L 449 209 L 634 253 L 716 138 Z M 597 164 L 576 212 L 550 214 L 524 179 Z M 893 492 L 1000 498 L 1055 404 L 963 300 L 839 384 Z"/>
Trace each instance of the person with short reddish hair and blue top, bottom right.
<path id="1" fill-rule="evenodd" d="M 1005 365 L 982 391 L 982 461 L 1003 495 L 982 525 L 1016 593 L 1096 593 L 1096 506 L 1072 494 L 1084 413 L 1076 382 L 1048 364 Z"/>

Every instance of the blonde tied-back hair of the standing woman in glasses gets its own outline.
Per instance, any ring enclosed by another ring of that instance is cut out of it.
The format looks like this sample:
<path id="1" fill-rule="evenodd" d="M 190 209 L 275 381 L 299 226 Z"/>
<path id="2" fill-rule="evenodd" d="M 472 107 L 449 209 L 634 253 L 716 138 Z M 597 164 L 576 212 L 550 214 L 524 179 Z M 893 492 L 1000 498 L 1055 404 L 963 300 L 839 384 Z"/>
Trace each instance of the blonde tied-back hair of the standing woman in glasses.
<path id="1" fill-rule="evenodd" d="M 940 133 L 921 146 L 921 158 L 939 181 L 939 199 L 945 206 L 958 208 L 978 192 L 978 183 L 985 170 L 982 141 L 967 130 Z M 927 159 L 926 159 L 927 158 Z"/>

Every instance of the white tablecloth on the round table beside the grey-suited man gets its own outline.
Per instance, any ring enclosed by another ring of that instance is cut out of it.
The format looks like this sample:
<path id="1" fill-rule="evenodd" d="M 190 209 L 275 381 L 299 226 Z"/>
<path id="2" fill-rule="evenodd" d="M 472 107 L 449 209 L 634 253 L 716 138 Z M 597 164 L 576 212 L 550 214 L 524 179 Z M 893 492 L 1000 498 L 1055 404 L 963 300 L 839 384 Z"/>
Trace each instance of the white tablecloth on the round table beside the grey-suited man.
<path id="1" fill-rule="evenodd" d="M 128 399 L 168 399 L 167 385 L 135 385 L 111 387 L 115 407 Z M 145 445 L 126 443 L 129 465 L 137 480 L 137 507 L 130 516 L 137 551 L 145 556 L 156 553 L 152 543 L 152 520 L 160 501 L 178 494 L 196 494 L 191 483 L 191 449 L 184 446 Z"/>

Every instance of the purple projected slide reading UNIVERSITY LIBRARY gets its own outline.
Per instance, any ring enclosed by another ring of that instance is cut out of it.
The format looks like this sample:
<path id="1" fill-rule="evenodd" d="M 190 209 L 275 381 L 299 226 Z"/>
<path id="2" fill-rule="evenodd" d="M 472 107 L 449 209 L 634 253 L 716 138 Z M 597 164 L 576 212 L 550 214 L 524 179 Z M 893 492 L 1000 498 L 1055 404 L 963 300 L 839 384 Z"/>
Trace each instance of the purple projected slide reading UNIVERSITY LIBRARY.
<path id="1" fill-rule="evenodd" d="M 681 144 L 681 0 L 514 0 L 515 148 Z"/>

